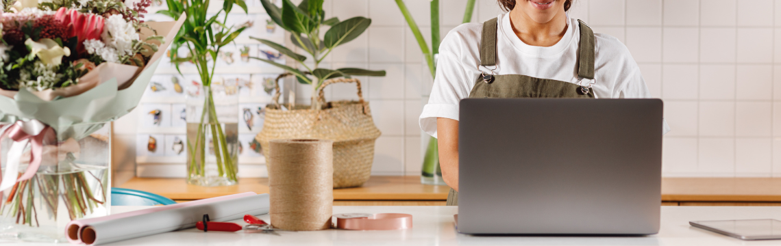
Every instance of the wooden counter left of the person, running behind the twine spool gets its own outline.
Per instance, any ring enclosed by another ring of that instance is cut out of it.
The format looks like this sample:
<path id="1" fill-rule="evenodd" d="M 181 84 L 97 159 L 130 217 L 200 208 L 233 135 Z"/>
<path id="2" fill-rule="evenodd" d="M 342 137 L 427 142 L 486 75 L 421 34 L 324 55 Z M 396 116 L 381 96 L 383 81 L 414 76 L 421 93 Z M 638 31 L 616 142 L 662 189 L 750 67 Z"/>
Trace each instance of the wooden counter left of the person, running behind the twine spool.
<path id="1" fill-rule="evenodd" d="M 174 200 L 208 199 L 241 192 L 268 193 L 268 178 L 240 178 L 238 185 L 201 187 L 187 185 L 184 178 L 134 177 L 120 188 L 152 192 Z M 333 190 L 334 200 L 444 201 L 450 188 L 422 185 L 419 176 L 372 176 L 362 187 Z"/>

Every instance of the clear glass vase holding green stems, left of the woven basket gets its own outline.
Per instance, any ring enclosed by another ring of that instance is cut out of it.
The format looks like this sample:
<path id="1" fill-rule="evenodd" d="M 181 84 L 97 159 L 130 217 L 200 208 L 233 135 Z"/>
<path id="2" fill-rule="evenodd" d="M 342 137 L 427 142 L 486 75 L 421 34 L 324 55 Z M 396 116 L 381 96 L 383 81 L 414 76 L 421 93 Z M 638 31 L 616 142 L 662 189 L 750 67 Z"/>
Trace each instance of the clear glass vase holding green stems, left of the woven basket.
<path id="1" fill-rule="evenodd" d="M 187 183 L 238 183 L 238 85 L 194 86 L 187 92 Z"/>

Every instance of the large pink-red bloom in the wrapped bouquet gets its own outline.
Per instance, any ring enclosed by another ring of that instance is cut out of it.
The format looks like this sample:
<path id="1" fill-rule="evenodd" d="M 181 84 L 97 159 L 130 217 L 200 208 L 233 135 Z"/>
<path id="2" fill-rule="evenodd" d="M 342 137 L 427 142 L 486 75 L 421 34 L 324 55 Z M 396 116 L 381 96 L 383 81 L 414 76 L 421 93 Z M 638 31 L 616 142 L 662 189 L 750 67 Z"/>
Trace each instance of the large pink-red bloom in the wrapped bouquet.
<path id="1" fill-rule="evenodd" d="M 87 52 L 84 49 L 84 40 L 100 40 L 103 33 L 103 16 L 62 7 L 55 13 L 55 19 L 66 26 L 66 37 L 78 37 L 76 50 L 79 54 Z"/>

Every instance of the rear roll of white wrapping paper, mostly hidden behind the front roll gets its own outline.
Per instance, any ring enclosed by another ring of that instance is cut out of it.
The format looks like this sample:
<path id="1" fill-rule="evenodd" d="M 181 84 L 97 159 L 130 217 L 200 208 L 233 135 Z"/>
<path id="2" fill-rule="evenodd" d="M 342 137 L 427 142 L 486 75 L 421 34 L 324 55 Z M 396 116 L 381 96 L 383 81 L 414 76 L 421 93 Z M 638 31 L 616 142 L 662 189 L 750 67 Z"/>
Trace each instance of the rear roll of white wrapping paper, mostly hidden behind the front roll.
<path id="1" fill-rule="evenodd" d="M 172 205 L 169 205 L 169 206 L 155 206 L 155 207 L 150 208 L 150 209 L 141 209 L 141 210 L 136 210 L 136 211 L 130 211 L 130 212 L 127 212 L 127 213 L 117 213 L 117 214 L 112 214 L 112 215 L 109 215 L 109 216 L 101 216 L 101 217 L 95 217 L 95 218 L 83 219 L 83 220 L 73 220 L 73 221 L 71 221 L 71 222 L 69 222 L 69 223 L 67 223 L 65 225 L 65 228 L 66 228 L 65 229 L 65 235 L 66 235 L 68 241 L 70 241 L 70 243 L 72 243 L 72 244 L 83 244 L 84 242 L 81 241 L 81 235 L 80 235 L 81 232 L 83 231 L 82 229 L 84 229 L 84 227 L 87 227 L 88 225 L 91 225 L 93 223 L 98 223 L 98 222 L 105 221 L 105 220 L 116 220 L 116 219 L 121 219 L 121 218 L 125 218 L 125 217 L 130 217 L 130 216 L 140 216 L 142 214 L 156 213 L 156 212 L 160 212 L 160 211 L 166 211 L 166 210 L 169 210 L 169 209 L 178 209 L 178 208 L 189 207 L 189 206 L 198 206 L 198 205 L 201 205 L 201 204 L 209 204 L 209 203 L 212 203 L 212 202 L 220 202 L 220 201 L 225 201 L 225 200 L 230 200 L 230 199 L 237 199 L 237 198 L 251 196 L 251 195 L 258 195 L 258 194 L 255 194 L 255 192 L 244 192 L 244 193 L 239 193 L 239 194 L 234 194 L 234 195 L 218 196 L 218 197 L 214 197 L 214 198 L 210 198 L 210 199 L 200 199 L 200 200 L 195 200 L 195 201 L 192 201 L 192 202 L 182 202 L 182 203 L 172 204 Z"/>

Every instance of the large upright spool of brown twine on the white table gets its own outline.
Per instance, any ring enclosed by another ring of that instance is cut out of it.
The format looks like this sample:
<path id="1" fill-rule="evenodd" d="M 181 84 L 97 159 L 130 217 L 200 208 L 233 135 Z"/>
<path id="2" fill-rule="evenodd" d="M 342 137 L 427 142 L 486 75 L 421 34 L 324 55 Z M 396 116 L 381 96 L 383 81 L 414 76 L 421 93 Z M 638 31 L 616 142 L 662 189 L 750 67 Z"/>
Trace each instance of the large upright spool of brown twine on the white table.
<path id="1" fill-rule="evenodd" d="M 271 225 L 282 230 L 330 228 L 333 209 L 333 141 L 269 142 Z"/>

